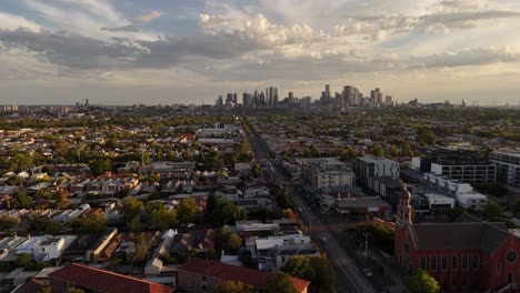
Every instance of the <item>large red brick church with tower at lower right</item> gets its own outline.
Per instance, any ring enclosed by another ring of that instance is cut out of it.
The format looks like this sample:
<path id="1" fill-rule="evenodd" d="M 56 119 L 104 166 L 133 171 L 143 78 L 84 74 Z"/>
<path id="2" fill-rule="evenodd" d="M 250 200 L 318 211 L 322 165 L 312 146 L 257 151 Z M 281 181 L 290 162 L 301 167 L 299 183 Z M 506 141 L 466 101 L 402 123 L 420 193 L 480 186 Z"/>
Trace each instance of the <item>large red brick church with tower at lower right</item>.
<path id="1" fill-rule="evenodd" d="M 411 222 L 410 193 L 400 195 L 394 255 L 407 270 L 428 271 L 449 292 L 516 292 L 520 231 L 469 214 L 454 223 Z"/>

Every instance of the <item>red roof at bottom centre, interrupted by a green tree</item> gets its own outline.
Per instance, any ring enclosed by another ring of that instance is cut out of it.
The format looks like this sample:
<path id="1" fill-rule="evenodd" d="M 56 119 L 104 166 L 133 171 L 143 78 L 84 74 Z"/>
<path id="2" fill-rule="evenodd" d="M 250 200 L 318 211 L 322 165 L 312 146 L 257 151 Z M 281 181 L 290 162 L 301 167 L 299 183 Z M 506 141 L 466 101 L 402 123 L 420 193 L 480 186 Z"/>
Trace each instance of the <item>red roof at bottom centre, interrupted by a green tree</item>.
<path id="1" fill-rule="evenodd" d="M 190 259 L 187 263 L 180 265 L 178 271 L 216 277 L 224 281 L 242 282 L 258 289 L 264 289 L 268 280 L 274 275 L 273 273 L 203 259 Z M 302 292 L 310 284 L 310 282 L 297 277 L 291 277 L 291 280 L 298 292 Z"/>

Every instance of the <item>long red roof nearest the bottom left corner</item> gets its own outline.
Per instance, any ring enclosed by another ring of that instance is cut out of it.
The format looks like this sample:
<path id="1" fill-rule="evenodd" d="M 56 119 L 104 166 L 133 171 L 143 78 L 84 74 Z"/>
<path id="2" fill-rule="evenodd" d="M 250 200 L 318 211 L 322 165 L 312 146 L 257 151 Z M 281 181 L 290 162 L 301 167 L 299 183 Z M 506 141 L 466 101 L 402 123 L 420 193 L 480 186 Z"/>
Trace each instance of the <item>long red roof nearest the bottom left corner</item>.
<path id="1" fill-rule="evenodd" d="M 49 274 L 50 280 L 64 281 L 84 289 L 106 293 L 170 293 L 172 287 L 136 277 L 72 263 Z M 51 282 L 52 284 L 52 282 Z"/>

